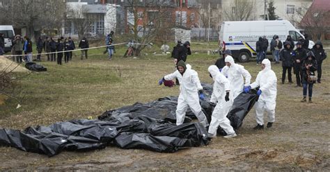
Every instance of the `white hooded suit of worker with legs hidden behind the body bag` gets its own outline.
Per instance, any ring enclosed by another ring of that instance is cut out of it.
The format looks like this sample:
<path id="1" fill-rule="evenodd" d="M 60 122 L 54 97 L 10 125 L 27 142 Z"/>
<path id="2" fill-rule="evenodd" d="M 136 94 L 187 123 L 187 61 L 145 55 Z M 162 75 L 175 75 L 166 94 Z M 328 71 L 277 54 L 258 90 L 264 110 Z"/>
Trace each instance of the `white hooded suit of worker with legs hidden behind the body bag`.
<path id="1" fill-rule="evenodd" d="M 225 62 L 230 62 L 231 65 L 230 67 L 223 67 L 221 73 L 228 77 L 230 82 L 230 93 L 233 94 L 235 99 L 243 92 L 244 86 L 250 85 L 251 75 L 242 65 L 235 64 L 232 56 L 228 55 L 225 58 Z M 245 78 L 245 85 L 243 77 Z"/>

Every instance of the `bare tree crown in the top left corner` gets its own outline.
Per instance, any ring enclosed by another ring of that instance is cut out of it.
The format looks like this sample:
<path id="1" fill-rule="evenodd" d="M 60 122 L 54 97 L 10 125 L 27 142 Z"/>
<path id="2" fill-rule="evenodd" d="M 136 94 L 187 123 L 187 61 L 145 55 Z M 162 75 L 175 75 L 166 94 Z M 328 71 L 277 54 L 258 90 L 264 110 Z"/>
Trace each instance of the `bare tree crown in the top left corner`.
<path id="1" fill-rule="evenodd" d="M 26 28 L 26 35 L 33 38 L 43 28 L 61 24 L 61 15 L 65 11 L 63 1 L 19 0 L 8 1 L 1 6 L 1 23 L 11 24 L 15 28 Z M 53 27 L 51 27 L 53 28 Z"/>

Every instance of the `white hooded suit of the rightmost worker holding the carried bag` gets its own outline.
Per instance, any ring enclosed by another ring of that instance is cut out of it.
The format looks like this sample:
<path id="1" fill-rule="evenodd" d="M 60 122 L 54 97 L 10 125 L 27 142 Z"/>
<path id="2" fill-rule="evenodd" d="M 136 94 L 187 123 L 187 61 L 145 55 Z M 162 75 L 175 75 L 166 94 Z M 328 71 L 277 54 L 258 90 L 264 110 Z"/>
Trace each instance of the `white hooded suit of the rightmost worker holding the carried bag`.
<path id="1" fill-rule="evenodd" d="M 270 61 L 268 59 L 262 60 L 265 64 L 265 69 L 259 72 L 256 82 L 252 83 L 251 89 L 260 87 L 261 94 L 256 102 L 256 119 L 257 123 L 262 126 L 264 124 L 263 113 L 267 112 L 268 122 L 275 121 L 275 107 L 276 107 L 276 94 L 277 94 L 277 78 L 272 70 Z"/>

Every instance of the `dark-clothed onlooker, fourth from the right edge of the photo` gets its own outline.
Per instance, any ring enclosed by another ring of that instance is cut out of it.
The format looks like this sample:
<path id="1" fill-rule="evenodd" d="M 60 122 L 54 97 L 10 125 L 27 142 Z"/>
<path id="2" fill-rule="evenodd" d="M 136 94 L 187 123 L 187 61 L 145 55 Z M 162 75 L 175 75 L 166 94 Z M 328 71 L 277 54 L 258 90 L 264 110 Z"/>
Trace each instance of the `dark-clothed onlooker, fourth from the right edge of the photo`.
<path id="1" fill-rule="evenodd" d="M 293 51 L 290 42 L 284 43 L 284 49 L 280 52 L 280 60 L 282 61 L 282 84 L 285 81 L 286 71 L 288 71 L 289 83 L 292 83 L 291 70 L 293 67 Z"/>

